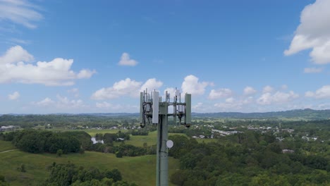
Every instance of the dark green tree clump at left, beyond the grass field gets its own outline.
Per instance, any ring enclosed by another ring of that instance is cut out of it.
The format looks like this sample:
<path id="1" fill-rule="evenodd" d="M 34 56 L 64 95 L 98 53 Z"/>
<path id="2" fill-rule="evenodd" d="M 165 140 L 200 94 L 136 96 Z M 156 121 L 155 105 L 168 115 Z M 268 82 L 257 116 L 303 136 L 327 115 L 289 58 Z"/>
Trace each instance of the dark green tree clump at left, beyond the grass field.
<path id="1" fill-rule="evenodd" d="M 64 154 L 83 151 L 92 144 L 90 135 L 86 132 L 51 132 L 46 130 L 17 130 L 1 134 L 2 140 L 11 141 L 15 147 L 31 153 L 56 153 L 62 150 Z M 88 139 L 89 142 L 86 140 Z"/>

